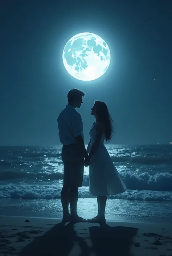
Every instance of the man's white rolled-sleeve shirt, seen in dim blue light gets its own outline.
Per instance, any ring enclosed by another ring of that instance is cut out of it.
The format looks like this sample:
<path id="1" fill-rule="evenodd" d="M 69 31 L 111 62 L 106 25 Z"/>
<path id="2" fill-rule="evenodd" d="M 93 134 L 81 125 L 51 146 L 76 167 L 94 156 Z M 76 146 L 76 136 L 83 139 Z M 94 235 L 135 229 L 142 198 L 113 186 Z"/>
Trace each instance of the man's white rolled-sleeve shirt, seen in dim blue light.
<path id="1" fill-rule="evenodd" d="M 61 111 L 57 119 L 60 142 L 63 145 L 76 143 L 76 137 L 81 135 L 83 140 L 83 123 L 79 112 L 75 107 L 66 105 L 65 109 Z"/>

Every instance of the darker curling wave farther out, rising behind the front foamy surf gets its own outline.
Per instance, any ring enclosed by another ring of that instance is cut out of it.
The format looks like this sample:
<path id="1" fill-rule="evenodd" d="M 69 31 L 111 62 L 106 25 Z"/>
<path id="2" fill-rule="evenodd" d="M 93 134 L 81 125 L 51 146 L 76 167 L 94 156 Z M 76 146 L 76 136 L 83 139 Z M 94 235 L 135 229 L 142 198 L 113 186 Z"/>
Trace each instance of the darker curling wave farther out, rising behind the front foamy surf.
<path id="1" fill-rule="evenodd" d="M 129 190 L 150 190 L 150 191 L 172 191 L 172 174 L 169 172 L 160 172 L 154 175 L 148 172 L 141 174 L 135 174 L 132 171 L 120 172 L 121 178 L 124 180 Z M 53 184 L 54 181 L 63 179 L 63 174 L 60 172 L 25 172 L 25 171 L 4 171 L 0 172 L 0 180 L 8 183 L 12 182 L 26 182 L 39 183 L 48 182 Z M 84 175 L 83 184 L 84 187 L 89 186 L 89 175 Z"/>

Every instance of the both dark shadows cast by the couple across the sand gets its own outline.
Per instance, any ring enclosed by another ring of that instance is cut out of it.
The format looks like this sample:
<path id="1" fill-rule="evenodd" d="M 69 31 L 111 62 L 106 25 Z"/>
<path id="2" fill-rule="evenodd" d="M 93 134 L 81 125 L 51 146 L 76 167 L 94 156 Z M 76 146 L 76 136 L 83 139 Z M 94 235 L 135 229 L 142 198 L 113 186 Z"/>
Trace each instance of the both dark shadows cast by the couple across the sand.
<path id="1" fill-rule="evenodd" d="M 36 237 L 21 250 L 19 256 L 131 256 L 132 237 L 138 229 L 103 224 L 100 227 L 90 227 L 89 231 L 93 244 L 91 248 L 84 238 L 77 236 L 73 224 L 65 225 L 61 222 L 44 235 Z M 80 249 L 72 251 L 75 242 Z"/>

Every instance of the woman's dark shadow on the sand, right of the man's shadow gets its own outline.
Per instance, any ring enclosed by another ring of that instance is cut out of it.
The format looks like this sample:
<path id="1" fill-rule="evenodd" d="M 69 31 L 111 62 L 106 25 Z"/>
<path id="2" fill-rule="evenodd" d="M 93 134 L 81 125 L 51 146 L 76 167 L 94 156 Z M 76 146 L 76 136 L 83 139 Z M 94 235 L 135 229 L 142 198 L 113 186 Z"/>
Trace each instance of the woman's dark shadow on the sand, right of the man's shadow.
<path id="1" fill-rule="evenodd" d="M 131 256 L 130 246 L 138 228 L 110 227 L 102 224 L 100 227 L 89 229 L 96 256 Z"/>

